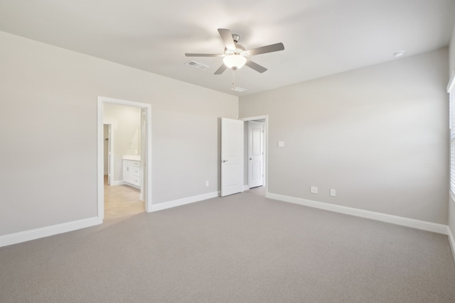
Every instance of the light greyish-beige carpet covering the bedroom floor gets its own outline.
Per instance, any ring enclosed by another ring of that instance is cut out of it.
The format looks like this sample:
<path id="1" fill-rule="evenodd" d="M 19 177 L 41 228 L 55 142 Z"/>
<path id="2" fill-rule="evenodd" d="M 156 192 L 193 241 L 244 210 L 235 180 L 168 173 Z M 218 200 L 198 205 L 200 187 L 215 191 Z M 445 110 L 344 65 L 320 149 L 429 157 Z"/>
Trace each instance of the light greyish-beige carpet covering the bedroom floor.
<path id="1" fill-rule="evenodd" d="M 234 194 L 0 248 L 0 302 L 455 302 L 437 233 Z"/>

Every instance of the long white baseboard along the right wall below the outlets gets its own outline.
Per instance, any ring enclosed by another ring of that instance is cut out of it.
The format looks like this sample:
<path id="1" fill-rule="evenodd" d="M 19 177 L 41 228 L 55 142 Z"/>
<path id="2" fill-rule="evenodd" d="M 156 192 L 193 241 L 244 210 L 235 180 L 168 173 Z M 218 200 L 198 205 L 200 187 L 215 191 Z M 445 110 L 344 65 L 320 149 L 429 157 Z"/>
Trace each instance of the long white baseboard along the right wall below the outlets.
<path id="1" fill-rule="evenodd" d="M 341 214 L 349 214 L 351 216 L 360 216 L 362 218 L 373 219 L 377 221 L 397 224 L 401 226 L 407 226 L 417 229 L 422 229 L 423 231 L 432 231 L 434 233 L 442 233 L 447 235 L 449 232 L 449 226 L 443 224 L 437 224 L 427 221 L 420 221 L 410 218 L 405 218 L 402 216 L 394 216 L 390 214 L 382 214 L 375 211 L 366 211 L 363 209 L 355 209 L 353 207 L 341 206 L 336 204 L 329 204 L 324 202 L 316 202 L 296 197 L 284 196 L 282 194 L 272 194 L 267 192 L 265 197 L 270 199 L 275 199 L 283 202 L 289 202 L 294 204 L 300 204 L 304 206 L 314 207 L 316 209 L 325 209 L 328 211 L 335 211 Z M 453 238 L 452 238 L 453 241 Z M 454 250 L 452 250 L 454 251 Z"/>

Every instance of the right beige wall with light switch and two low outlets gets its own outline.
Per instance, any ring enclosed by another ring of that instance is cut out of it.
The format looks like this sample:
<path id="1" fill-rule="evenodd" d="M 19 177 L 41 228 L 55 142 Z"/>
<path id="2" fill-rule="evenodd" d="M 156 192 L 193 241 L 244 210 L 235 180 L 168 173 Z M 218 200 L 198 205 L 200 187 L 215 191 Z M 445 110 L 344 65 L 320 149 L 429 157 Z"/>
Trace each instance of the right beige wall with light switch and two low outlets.
<path id="1" fill-rule="evenodd" d="M 240 97 L 269 115 L 269 192 L 447 224 L 448 65 L 444 48 Z"/>

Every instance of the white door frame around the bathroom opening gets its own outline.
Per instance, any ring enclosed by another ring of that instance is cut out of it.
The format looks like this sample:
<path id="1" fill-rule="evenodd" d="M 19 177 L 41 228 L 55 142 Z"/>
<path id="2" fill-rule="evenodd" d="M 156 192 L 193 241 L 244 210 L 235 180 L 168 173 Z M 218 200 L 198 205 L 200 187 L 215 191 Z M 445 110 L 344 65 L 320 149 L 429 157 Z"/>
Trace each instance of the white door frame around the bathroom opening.
<path id="1" fill-rule="evenodd" d="M 146 173 L 144 173 L 144 177 L 146 180 L 144 180 L 145 183 L 145 194 L 144 194 L 144 199 L 145 199 L 145 211 L 146 212 L 151 212 L 151 104 L 146 104 L 146 103 L 140 103 L 140 102 L 135 102 L 135 101 L 127 101 L 127 100 L 121 100 L 121 99 L 113 99 L 113 98 L 108 98 L 108 97 L 98 97 L 98 115 L 97 115 L 97 142 L 98 142 L 98 150 L 97 150 L 97 155 L 98 155 L 98 173 L 97 173 L 97 180 L 98 180 L 98 223 L 102 224 L 102 220 L 105 217 L 105 184 L 104 184 L 104 144 L 103 144 L 103 104 L 104 103 L 110 103 L 110 104 L 120 104 L 120 105 L 127 105 L 127 106 L 136 106 L 140 107 L 142 109 L 146 109 L 146 138 L 145 142 L 142 142 L 141 144 L 146 145 L 146 150 L 148 150 L 148 153 L 146 155 L 141 155 L 141 162 L 145 163 L 144 170 L 146 170 Z M 111 167 L 113 165 L 111 164 Z M 144 171 L 145 172 L 145 171 Z"/>

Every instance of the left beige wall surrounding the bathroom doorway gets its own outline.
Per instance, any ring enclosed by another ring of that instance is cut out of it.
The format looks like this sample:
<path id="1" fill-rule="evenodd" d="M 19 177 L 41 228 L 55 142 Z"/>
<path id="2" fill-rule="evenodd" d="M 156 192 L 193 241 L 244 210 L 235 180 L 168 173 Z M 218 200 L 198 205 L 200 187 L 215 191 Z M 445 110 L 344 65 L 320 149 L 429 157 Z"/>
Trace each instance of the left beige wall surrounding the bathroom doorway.
<path id="1" fill-rule="evenodd" d="M 237 118 L 237 97 L 7 33 L 0 45 L 0 236 L 97 216 L 98 96 L 152 104 L 152 203 L 218 190 L 219 118 Z"/>

